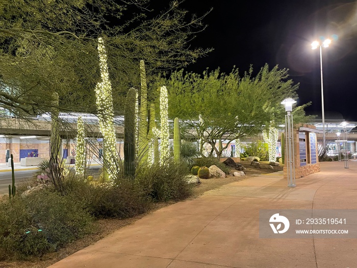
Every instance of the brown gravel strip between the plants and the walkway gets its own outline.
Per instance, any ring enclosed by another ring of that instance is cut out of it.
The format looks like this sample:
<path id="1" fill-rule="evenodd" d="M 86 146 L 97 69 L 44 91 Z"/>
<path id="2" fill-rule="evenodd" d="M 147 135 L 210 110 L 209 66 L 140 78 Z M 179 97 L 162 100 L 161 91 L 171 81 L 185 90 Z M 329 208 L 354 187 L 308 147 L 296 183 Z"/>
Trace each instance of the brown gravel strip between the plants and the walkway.
<path id="1" fill-rule="evenodd" d="M 235 181 L 242 181 L 247 178 L 253 177 L 252 175 L 257 175 L 257 174 L 262 174 L 262 173 L 272 173 L 276 172 L 279 170 L 283 170 L 282 166 L 274 167 L 274 170 L 272 169 L 260 169 L 260 168 L 253 168 L 249 165 L 249 162 L 242 162 L 242 164 L 247 167 L 246 170 L 244 170 L 244 173 L 246 176 L 244 177 L 234 177 L 231 175 L 228 175 L 226 178 L 221 179 L 221 178 L 212 178 L 208 180 L 201 180 L 201 183 L 198 184 L 194 190 L 193 190 L 193 196 L 192 198 L 197 198 L 201 194 L 205 193 L 206 191 L 215 189 L 217 187 L 220 187 L 222 185 L 235 182 Z M 231 173 L 233 173 L 235 170 L 231 170 Z M 158 210 L 160 208 L 163 208 L 165 206 L 169 206 L 175 202 L 167 202 L 167 203 L 155 203 L 152 205 L 152 208 L 141 215 L 132 217 L 132 218 L 127 218 L 124 220 L 117 220 L 117 219 L 105 219 L 105 220 L 98 220 L 94 223 L 94 232 L 91 235 L 88 235 L 82 239 L 79 239 L 69 245 L 67 247 L 60 249 L 57 252 L 54 253 L 49 253 L 46 254 L 45 256 L 39 257 L 39 258 L 32 258 L 27 261 L 0 261 L 0 268 L 20 268 L 20 267 L 33 267 L 33 268 L 44 268 L 49 265 L 52 265 L 53 263 L 60 261 L 61 259 L 64 259 L 65 257 L 81 250 L 89 245 L 95 243 L 96 241 L 100 240 L 101 238 L 107 236 L 108 234 L 120 229 L 121 227 L 124 227 L 126 225 L 130 225 L 134 223 L 135 221 L 139 220 L 140 218 L 144 217 L 145 215 Z"/>

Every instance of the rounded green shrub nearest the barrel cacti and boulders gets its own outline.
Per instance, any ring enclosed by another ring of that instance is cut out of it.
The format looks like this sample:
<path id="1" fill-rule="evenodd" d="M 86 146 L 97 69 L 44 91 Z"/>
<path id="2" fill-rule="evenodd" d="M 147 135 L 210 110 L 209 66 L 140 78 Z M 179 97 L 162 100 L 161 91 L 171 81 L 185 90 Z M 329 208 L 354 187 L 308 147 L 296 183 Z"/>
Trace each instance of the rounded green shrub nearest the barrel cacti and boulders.
<path id="1" fill-rule="evenodd" d="M 192 194 L 193 186 L 185 178 L 189 173 L 190 170 L 184 163 L 154 165 L 138 174 L 136 183 L 154 201 L 183 200 Z"/>

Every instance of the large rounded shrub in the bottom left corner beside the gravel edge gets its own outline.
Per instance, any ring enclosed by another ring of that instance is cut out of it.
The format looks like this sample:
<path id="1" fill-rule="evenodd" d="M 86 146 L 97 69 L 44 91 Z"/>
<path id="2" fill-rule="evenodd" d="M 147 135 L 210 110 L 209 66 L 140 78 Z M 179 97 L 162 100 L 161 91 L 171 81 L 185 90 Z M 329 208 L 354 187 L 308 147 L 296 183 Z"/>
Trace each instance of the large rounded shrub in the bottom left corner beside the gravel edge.
<path id="1" fill-rule="evenodd" d="M 90 231 L 83 202 L 48 189 L 0 203 L 0 249 L 24 258 L 52 252 Z"/>

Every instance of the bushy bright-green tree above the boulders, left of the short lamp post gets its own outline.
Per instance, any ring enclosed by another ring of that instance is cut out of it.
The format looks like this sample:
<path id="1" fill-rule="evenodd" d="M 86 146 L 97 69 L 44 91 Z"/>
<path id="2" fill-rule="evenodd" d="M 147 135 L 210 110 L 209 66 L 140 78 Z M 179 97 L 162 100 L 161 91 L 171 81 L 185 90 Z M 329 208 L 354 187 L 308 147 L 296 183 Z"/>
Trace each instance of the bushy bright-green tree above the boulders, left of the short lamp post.
<path id="1" fill-rule="evenodd" d="M 287 96 L 296 99 L 298 88 L 287 78 L 288 69 L 269 69 L 267 64 L 255 77 L 252 68 L 242 77 L 238 69 L 230 74 L 205 71 L 202 76 L 177 71 L 166 81 L 169 117 L 182 119 L 185 135 L 201 141 L 201 154 L 203 144 L 209 143 L 210 156 L 220 158 L 233 140 L 260 134 L 273 118 L 275 123 L 283 121 L 280 103 Z M 294 109 L 296 122 L 304 116 L 303 107 Z"/>

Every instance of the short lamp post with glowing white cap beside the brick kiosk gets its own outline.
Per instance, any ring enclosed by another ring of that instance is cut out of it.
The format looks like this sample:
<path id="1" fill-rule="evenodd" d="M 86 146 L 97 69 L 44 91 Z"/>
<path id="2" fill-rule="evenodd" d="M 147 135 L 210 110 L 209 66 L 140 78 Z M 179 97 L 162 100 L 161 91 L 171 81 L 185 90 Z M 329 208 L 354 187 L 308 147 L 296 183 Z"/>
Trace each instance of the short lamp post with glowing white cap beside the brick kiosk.
<path id="1" fill-rule="evenodd" d="M 296 187 L 293 115 L 291 114 L 294 103 L 296 103 L 296 101 L 294 101 L 291 98 L 285 99 L 284 101 L 281 102 L 281 104 L 285 106 L 285 111 L 287 112 L 287 114 L 285 115 L 285 136 L 286 136 L 286 144 L 287 144 L 286 160 L 287 160 L 288 187 Z"/>

